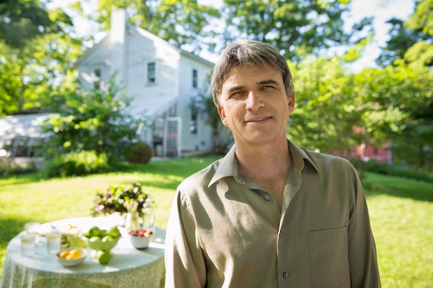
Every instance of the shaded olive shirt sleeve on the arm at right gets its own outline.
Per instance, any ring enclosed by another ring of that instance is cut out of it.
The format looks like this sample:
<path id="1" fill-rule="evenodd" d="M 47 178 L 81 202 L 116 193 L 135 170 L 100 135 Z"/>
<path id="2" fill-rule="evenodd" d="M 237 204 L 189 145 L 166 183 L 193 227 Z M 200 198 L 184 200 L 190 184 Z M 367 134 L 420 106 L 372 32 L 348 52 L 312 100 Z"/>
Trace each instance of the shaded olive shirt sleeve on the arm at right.
<path id="1" fill-rule="evenodd" d="M 349 218 L 349 267 L 352 288 L 380 288 L 376 244 L 371 232 L 367 202 L 358 173 L 352 166 L 353 182 Z"/>

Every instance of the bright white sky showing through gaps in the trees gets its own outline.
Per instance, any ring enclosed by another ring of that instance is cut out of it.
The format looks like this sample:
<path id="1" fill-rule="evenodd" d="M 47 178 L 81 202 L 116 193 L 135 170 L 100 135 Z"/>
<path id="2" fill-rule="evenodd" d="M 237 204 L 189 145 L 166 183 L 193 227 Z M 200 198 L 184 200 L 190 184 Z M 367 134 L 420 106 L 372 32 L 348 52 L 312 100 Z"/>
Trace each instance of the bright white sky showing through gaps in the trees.
<path id="1" fill-rule="evenodd" d="M 52 0 L 47 6 L 48 8 L 54 7 L 65 7 L 68 3 L 74 2 L 75 0 Z M 198 0 L 199 3 L 214 5 L 216 7 L 221 6 L 222 0 Z M 398 19 L 407 19 L 409 15 L 414 12 L 414 1 L 415 0 L 352 0 L 351 12 L 345 17 L 345 28 L 349 30 L 353 23 L 360 21 L 364 17 L 374 17 L 374 29 L 376 36 L 374 43 L 370 44 L 365 51 L 365 55 L 353 64 L 353 70 L 360 70 L 365 67 L 374 67 L 375 59 L 380 54 L 380 46 L 385 46 L 389 36 L 387 31 L 389 25 L 385 22 L 392 17 Z M 95 9 L 95 1 L 82 1 L 84 12 L 91 13 Z M 93 2 L 93 4 L 91 4 Z M 90 4 L 89 4 L 90 3 Z M 77 29 L 77 33 L 80 36 L 94 34 L 93 27 L 86 22 L 85 19 L 80 17 L 74 17 L 74 26 Z M 104 33 L 95 35 L 102 39 Z M 215 62 L 217 55 L 213 55 L 209 52 L 202 52 L 201 57 L 208 59 L 209 61 Z"/>

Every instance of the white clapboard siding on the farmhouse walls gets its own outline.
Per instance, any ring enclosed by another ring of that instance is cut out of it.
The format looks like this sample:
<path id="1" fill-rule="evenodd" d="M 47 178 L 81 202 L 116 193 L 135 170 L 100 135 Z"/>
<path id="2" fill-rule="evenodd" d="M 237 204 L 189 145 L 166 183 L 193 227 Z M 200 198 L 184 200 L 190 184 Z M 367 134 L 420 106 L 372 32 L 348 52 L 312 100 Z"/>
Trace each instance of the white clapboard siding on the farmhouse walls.
<path id="1" fill-rule="evenodd" d="M 123 21 L 122 13 L 118 15 L 118 21 Z M 118 28 L 120 26 L 119 24 Z M 111 38 L 111 31 L 77 62 L 80 79 L 86 84 L 85 87 L 93 88 L 92 75 L 95 68 L 102 69 L 104 82 L 109 81 L 114 69 L 122 69 L 118 80 L 121 88 L 125 88 L 128 97 L 132 99 L 131 113 L 142 115 L 147 110 L 148 116 L 160 116 L 160 119 L 167 116 L 181 117 L 183 151 L 209 151 L 212 148 L 211 131 L 205 125 L 203 115 L 199 115 L 197 133 L 190 132 L 190 98 L 199 95 L 205 87 L 210 88 L 208 77 L 213 65 L 182 52 L 145 30 L 129 24 L 124 27 L 125 34 L 119 33 L 119 37 Z M 120 34 L 125 35 L 125 38 L 120 37 Z M 111 43 L 113 41 L 116 45 Z M 146 64 L 149 61 L 156 63 L 156 82 L 150 84 L 146 77 Z M 193 69 L 198 72 L 197 88 L 192 87 Z M 170 106 L 172 108 L 168 109 Z M 146 137 L 151 139 L 151 131 Z"/>

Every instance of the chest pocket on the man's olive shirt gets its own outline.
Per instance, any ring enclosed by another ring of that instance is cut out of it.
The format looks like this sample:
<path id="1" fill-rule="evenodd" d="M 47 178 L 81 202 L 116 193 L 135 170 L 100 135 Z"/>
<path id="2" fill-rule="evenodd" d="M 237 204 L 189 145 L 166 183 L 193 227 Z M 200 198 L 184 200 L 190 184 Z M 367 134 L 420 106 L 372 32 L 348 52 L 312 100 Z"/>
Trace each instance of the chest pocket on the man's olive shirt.
<path id="1" fill-rule="evenodd" d="M 347 227 L 307 233 L 313 288 L 350 288 Z"/>

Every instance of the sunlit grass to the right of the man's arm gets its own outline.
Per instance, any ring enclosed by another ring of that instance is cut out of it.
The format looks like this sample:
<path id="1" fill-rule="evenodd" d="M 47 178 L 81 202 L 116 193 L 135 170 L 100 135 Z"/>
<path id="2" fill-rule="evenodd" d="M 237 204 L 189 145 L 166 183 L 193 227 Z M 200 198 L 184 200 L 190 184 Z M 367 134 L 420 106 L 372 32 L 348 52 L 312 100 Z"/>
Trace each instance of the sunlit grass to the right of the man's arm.
<path id="1" fill-rule="evenodd" d="M 433 287 L 433 184 L 368 174 L 382 287 Z"/>

